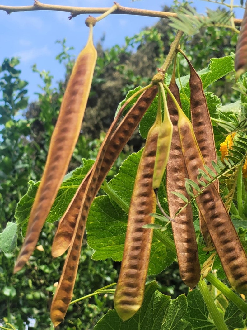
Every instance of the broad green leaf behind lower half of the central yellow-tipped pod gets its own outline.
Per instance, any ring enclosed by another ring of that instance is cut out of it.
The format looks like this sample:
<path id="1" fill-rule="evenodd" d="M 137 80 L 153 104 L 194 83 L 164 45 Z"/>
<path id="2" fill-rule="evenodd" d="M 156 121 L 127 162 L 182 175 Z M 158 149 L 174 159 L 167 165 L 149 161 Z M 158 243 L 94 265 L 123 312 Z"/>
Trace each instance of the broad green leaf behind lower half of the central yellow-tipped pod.
<path id="1" fill-rule="evenodd" d="M 121 261 L 127 229 L 127 214 L 108 196 L 96 197 L 87 221 L 88 245 L 95 250 L 93 259 Z M 148 274 L 158 274 L 175 259 L 175 254 L 153 239 Z"/>

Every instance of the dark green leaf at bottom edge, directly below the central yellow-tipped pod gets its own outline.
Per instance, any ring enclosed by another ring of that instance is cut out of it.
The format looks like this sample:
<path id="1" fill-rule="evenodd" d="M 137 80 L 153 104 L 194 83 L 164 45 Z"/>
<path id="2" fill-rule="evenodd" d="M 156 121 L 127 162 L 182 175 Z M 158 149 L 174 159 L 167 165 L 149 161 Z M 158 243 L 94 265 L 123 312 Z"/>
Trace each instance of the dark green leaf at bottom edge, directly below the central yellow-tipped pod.
<path id="1" fill-rule="evenodd" d="M 171 297 L 157 290 L 156 282 L 146 285 L 140 310 L 129 320 L 122 321 L 115 310 L 110 310 L 96 324 L 95 330 L 161 330 Z M 167 328 L 168 330 L 168 328 Z"/>

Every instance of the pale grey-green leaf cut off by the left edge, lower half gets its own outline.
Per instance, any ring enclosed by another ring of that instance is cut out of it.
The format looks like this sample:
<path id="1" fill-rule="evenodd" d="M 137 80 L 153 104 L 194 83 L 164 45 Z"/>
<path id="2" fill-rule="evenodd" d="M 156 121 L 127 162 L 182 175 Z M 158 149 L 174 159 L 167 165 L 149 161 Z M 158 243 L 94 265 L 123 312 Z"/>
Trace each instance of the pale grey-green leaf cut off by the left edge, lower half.
<path id="1" fill-rule="evenodd" d="M 13 252 L 16 247 L 17 225 L 13 222 L 8 222 L 6 228 L 0 234 L 0 250 L 5 253 Z"/>

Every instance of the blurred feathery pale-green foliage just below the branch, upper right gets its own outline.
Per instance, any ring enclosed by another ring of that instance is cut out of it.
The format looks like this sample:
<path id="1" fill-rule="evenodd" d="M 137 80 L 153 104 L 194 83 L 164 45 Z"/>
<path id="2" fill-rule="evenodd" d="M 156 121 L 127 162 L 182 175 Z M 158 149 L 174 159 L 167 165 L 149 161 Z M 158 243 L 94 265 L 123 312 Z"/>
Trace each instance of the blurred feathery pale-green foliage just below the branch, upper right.
<path id="1" fill-rule="evenodd" d="M 181 30 L 187 35 L 194 35 L 205 26 L 229 26 L 232 13 L 225 9 L 215 11 L 207 9 L 207 15 L 199 15 L 194 8 L 186 4 L 186 8 L 181 6 L 175 10 L 177 17 L 171 17 L 172 23 L 169 25 L 177 30 Z"/>

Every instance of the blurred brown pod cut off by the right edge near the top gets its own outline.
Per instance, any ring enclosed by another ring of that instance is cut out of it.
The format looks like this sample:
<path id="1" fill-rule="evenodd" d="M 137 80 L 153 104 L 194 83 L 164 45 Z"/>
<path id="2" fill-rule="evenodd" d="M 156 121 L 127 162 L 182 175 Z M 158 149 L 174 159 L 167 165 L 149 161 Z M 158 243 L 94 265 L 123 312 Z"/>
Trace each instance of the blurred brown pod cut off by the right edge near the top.
<path id="1" fill-rule="evenodd" d="M 244 11 L 244 17 L 241 23 L 240 34 L 236 46 L 235 70 L 236 80 L 247 70 L 247 6 Z"/>

